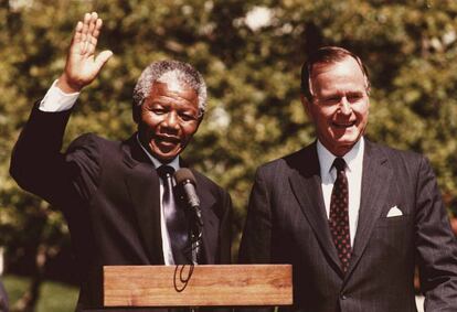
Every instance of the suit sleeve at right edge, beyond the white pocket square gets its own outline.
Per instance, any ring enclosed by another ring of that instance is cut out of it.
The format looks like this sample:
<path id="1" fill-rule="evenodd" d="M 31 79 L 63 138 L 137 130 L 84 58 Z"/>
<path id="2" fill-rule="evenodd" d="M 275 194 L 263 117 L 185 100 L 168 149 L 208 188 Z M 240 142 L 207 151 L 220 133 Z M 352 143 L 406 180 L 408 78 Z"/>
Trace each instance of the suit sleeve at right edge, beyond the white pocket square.
<path id="1" fill-rule="evenodd" d="M 425 159 L 417 181 L 416 250 L 425 311 L 457 311 L 457 243 Z"/>

